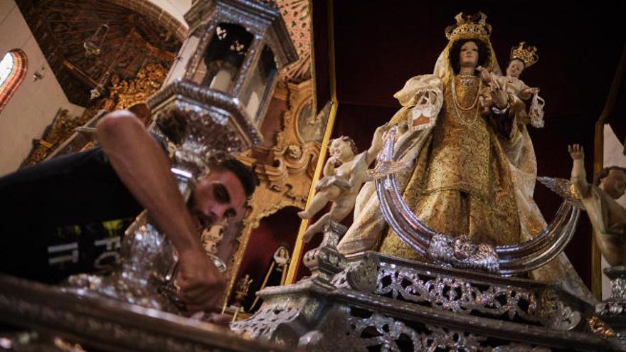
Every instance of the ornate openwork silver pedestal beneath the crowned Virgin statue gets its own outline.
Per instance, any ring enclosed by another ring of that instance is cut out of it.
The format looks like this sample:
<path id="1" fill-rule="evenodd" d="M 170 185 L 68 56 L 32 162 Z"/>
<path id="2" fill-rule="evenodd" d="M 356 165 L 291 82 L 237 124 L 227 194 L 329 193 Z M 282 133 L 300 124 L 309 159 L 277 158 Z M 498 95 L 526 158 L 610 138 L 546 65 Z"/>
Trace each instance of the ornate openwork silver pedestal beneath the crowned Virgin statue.
<path id="1" fill-rule="evenodd" d="M 231 328 L 306 351 L 619 350 L 588 329 L 593 306 L 542 282 L 365 252 L 331 283 L 263 289 Z"/>

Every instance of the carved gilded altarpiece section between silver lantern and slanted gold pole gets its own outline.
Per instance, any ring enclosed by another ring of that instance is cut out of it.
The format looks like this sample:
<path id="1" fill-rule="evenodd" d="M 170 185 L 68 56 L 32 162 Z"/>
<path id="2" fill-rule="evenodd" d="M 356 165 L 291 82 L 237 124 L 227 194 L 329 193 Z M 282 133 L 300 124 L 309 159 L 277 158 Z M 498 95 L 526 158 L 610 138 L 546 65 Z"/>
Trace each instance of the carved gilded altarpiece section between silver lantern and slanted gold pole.
<path id="1" fill-rule="evenodd" d="M 245 272 L 239 272 L 243 261 L 243 255 L 250 240 L 250 235 L 267 216 L 277 213 L 286 207 L 304 209 L 307 203 L 307 195 L 311 187 L 317 157 L 319 156 L 321 136 L 319 139 L 302 138 L 299 132 L 300 115 L 307 114 L 305 119 L 317 121 L 317 127 L 323 130 L 322 122 L 327 121 L 326 116 L 313 114 L 312 105 L 313 85 L 312 80 L 307 80 L 299 85 L 287 83 L 277 88 L 275 100 L 286 100 L 286 110 L 282 112 L 280 129 L 274 134 L 274 145 L 271 147 L 259 147 L 248 151 L 238 159 L 244 164 L 255 166 L 255 172 L 260 185 L 249 203 L 248 215 L 239 238 L 238 250 L 233 256 L 233 263 L 228 270 L 229 284 L 226 291 L 224 304 L 233 294 L 235 279 Z M 322 110 L 324 115 L 327 111 Z M 301 124 L 300 124 L 301 125 Z M 317 134 L 314 135 L 314 137 Z M 264 136 L 268 138 L 268 136 Z M 295 245 L 297 228 L 293 231 L 292 243 Z M 273 252 L 273 250 L 272 250 Z M 244 270 L 244 268 L 242 268 Z M 249 294 L 254 294 L 250 292 Z"/>

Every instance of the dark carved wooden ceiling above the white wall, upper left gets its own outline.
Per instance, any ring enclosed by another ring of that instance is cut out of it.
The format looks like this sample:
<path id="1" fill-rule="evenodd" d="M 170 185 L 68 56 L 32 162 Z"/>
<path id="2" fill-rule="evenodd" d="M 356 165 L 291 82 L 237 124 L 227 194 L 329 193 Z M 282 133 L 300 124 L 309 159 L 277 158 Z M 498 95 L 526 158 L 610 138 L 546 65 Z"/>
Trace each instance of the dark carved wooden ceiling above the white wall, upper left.
<path id="1" fill-rule="evenodd" d="M 149 63 L 169 68 L 181 46 L 159 23 L 107 0 L 17 4 L 65 94 L 77 105 L 89 105 L 90 90 L 113 75 L 131 79 Z M 102 25 L 108 26 L 106 36 L 102 29 L 94 37 Z M 102 43 L 100 55 L 86 55 L 85 41 Z"/>

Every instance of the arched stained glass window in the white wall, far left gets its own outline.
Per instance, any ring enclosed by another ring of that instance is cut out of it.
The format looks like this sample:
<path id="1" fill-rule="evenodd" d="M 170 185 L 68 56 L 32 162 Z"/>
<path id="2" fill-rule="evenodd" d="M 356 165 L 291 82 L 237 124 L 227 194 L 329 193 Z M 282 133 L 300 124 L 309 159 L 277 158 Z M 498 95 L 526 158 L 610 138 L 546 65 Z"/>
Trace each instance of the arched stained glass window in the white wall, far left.
<path id="1" fill-rule="evenodd" d="M 26 76 L 26 53 L 14 49 L 4 54 L 0 61 L 0 112 Z"/>

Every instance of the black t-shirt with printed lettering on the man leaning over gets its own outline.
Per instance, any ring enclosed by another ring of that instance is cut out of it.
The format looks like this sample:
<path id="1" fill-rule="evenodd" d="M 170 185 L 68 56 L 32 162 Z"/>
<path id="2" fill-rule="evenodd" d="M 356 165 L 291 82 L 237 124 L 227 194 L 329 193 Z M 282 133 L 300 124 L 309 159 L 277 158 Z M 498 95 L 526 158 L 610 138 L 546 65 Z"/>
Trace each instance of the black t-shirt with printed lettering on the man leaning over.
<path id="1" fill-rule="evenodd" d="M 100 147 L 4 176 L 0 271 L 55 282 L 103 269 L 142 209 Z"/>

